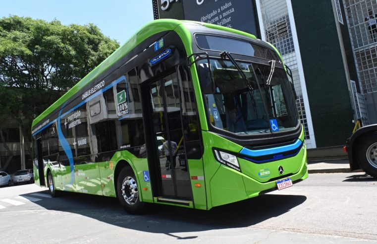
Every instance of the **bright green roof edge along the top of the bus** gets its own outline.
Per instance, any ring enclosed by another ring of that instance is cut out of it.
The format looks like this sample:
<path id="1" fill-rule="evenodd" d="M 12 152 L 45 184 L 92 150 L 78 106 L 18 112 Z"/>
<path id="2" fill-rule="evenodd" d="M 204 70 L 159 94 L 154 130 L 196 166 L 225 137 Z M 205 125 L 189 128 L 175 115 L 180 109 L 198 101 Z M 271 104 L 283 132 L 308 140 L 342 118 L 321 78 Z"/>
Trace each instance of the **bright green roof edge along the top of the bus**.
<path id="1" fill-rule="evenodd" d="M 157 34 L 162 31 L 174 30 L 178 26 L 182 26 L 183 31 L 185 34 L 190 36 L 189 30 L 184 27 L 185 25 L 192 25 L 198 24 L 202 25 L 211 29 L 223 30 L 228 31 L 236 34 L 240 34 L 243 36 L 247 36 L 253 39 L 256 37 L 252 34 L 219 26 L 209 23 L 197 22 L 197 21 L 189 21 L 189 20 L 176 20 L 176 19 L 158 19 L 148 24 L 144 25 L 136 34 L 134 34 L 130 39 L 128 39 L 122 46 L 120 46 L 117 50 L 115 50 L 106 60 L 102 61 L 96 68 L 94 68 L 90 73 L 88 73 L 84 78 L 82 78 L 79 82 L 77 82 L 69 91 L 67 91 L 63 96 L 61 96 L 58 100 L 56 100 L 49 108 L 47 108 L 41 115 L 39 115 L 32 123 L 32 128 L 43 119 L 48 117 L 50 114 L 54 112 L 57 108 L 63 105 L 71 96 L 79 92 L 85 85 L 91 82 L 93 79 L 98 77 L 104 71 L 106 71 L 109 67 L 111 67 L 115 62 L 119 61 L 122 57 L 127 55 L 131 52 L 137 45 L 143 42 L 146 38 Z M 191 38 L 187 40 L 182 40 L 183 43 L 185 41 L 189 44 L 189 48 L 191 50 Z M 187 54 L 190 55 L 190 50 L 187 50 Z"/>

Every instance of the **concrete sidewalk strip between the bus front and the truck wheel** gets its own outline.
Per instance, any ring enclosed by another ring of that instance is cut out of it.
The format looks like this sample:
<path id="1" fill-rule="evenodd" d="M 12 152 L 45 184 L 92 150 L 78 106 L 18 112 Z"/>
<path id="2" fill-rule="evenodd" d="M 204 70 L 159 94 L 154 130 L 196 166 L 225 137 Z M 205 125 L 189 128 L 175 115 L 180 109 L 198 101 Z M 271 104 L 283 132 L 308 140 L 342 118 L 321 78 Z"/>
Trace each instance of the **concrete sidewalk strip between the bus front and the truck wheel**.
<path id="1" fill-rule="evenodd" d="M 349 173 L 350 166 L 348 160 L 316 160 L 308 162 L 309 174 L 315 173 Z M 362 172 L 362 171 L 355 171 Z"/>

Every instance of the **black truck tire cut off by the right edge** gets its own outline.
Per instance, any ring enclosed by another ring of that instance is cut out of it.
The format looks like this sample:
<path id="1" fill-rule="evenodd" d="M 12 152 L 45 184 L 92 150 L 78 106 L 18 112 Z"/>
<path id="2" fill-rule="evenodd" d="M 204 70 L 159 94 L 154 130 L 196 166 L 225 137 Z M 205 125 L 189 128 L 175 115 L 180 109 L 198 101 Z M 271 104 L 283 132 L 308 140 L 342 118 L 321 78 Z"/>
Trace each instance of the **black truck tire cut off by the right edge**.
<path id="1" fill-rule="evenodd" d="M 362 138 L 357 147 L 357 161 L 368 175 L 377 178 L 377 133 Z"/>

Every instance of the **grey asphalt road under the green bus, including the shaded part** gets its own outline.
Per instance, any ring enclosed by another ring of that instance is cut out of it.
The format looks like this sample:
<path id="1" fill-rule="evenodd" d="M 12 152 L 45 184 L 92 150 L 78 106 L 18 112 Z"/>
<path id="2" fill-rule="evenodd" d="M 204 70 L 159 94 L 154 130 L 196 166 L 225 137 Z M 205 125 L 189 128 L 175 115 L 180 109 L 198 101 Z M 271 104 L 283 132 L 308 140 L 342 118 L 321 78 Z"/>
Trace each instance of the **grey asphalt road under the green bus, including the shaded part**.
<path id="1" fill-rule="evenodd" d="M 377 243 L 377 180 L 311 174 L 281 191 L 193 210 L 150 205 L 126 214 L 114 198 L 34 184 L 0 188 L 0 243 Z"/>

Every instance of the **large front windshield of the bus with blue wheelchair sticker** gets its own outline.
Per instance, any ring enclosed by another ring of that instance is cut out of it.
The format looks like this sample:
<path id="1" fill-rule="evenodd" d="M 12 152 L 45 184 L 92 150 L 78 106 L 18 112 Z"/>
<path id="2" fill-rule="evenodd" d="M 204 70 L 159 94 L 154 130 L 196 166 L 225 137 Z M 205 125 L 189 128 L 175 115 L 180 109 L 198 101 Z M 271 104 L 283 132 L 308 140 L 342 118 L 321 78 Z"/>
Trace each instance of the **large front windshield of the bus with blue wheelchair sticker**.
<path id="1" fill-rule="evenodd" d="M 199 61 L 199 65 L 207 63 Z M 235 134 L 259 134 L 297 126 L 298 113 L 284 69 L 276 67 L 271 72 L 269 65 L 237 62 L 245 80 L 231 61 L 210 59 L 210 63 L 214 84 L 208 89 L 201 80 L 201 86 L 210 122 L 216 128 Z"/>

